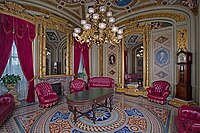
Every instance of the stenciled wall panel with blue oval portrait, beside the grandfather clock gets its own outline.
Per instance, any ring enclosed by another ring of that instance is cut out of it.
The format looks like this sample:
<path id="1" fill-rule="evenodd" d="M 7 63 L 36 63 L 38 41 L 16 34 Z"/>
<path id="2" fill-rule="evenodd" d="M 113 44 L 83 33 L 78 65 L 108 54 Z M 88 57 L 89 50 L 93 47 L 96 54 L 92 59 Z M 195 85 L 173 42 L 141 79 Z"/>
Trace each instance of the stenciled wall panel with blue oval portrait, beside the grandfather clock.
<path id="1" fill-rule="evenodd" d="M 153 33 L 152 35 L 152 81 L 173 79 L 173 44 L 172 30 Z"/>

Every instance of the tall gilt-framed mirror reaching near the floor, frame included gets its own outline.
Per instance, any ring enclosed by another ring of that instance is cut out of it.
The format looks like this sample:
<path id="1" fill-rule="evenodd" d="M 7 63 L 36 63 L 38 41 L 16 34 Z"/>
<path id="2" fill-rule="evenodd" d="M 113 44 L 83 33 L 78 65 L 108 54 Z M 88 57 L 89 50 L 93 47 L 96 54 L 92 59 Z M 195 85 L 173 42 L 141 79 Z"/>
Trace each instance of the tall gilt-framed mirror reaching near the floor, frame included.
<path id="1" fill-rule="evenodd" d="M 126 74 L 135 74 L 136 79 L 130 82 L 138 82 L 141 86 L 148 86 L 148 43 L 150 25 L 130 22 L 125 25 L 124 38 L 122 40 L 122 71 L 121 85 L 126 87 Z"/>

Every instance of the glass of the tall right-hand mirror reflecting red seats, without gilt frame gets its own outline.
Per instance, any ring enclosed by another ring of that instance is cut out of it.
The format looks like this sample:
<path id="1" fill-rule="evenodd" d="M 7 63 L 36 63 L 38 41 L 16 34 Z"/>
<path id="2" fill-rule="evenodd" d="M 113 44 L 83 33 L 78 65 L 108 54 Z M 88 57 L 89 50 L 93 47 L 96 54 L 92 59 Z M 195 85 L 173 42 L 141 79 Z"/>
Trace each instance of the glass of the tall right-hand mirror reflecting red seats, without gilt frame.
<path id="1" fill-rule="evenodd" d="M 143 85 L 143 34 L 132 34 L 124 42 L 124 80 L 127 84 Z"/>

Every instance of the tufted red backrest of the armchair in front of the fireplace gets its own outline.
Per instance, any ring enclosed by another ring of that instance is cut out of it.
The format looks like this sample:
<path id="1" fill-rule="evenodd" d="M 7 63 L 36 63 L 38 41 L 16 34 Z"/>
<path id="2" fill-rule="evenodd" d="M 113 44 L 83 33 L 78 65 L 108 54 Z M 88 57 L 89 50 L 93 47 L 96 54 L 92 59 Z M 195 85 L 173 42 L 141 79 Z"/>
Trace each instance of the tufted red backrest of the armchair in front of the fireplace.
<path id="1" fill-rule="evenodd" d="M 55 93 L 49 83 L 41 82 L 35 86 L 36 93 L 42 96 L 48 96 Z"/>

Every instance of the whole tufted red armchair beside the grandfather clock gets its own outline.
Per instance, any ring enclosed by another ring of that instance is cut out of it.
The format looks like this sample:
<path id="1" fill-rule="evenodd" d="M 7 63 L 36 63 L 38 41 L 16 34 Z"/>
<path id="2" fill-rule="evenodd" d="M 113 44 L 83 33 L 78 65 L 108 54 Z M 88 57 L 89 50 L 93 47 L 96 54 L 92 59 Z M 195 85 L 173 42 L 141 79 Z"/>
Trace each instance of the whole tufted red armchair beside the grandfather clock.
<path id="1" fill-rule="evenodd" d="M 149 101 L 164 104 L 171 93 L 170 84 L 167 81 L 158 80 L 152 83 L 152 87 L 147 88 L 147 98 Z"/>

